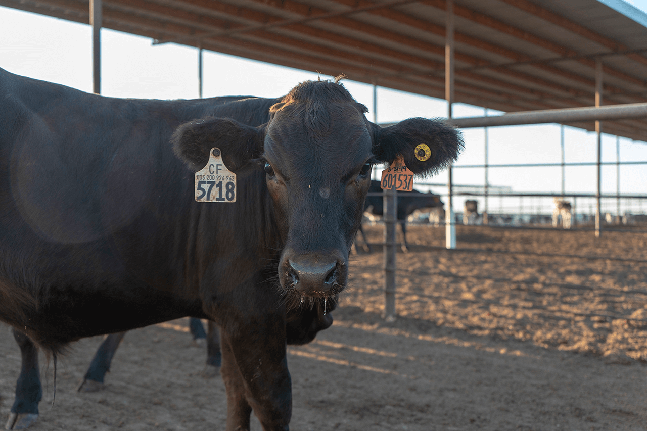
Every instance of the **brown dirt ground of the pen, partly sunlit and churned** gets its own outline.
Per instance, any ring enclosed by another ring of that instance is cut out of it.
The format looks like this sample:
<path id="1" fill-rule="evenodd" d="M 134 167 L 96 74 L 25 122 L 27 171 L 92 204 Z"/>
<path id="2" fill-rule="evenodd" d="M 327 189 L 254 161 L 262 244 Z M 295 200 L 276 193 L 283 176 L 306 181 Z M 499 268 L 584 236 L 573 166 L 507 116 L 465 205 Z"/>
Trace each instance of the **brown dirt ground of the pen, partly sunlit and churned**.
<path id="1" fill-rule="evenodd" d="M 644 229 L 643 230 L 647 230 Z M 379 227 L 367 228 L 381 240 Z M 647 430 L 647 234 L 411 227 L 395 322 L 382 252 L 354 255 L 333 327 L 289 348 L 293 430 Z M 429 247 L 432 246 L 432 247 Z M 188 320 L 131 331 L 106 388 L 78 393 L 102 338 L 42 367 L 32 430 L 224 430 L 220 377 Z M 19 351 L 0 327 L 0 415 Z M 252 429 L 258 430 L 254 419 Z"/>

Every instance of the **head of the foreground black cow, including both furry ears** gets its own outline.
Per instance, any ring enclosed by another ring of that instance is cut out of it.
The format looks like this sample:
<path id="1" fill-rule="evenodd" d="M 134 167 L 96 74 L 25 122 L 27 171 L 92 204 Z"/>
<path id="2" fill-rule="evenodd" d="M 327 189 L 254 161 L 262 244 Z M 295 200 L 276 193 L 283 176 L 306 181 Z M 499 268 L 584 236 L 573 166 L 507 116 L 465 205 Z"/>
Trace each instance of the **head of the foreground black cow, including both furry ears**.
<path id="1" fill-rule="evenodd" d="M 278 278 L 296 300 L 332 298 L 344 289 L 373 164 L 402 155 L 413 173 L 426 175 L 462 147 L 459 133 L 444 122 L 410 118 L 382 128 L 366 112 L 337 81 L 303 82 L 270 108 L 263 126 L 205 118 L 173 136 L 175 152 L 194 170 L 218 147 L 230 170 L 258 162 L 265 171 L 283 243 Z M 421 143 L 431 149 L 424 161 L 414 154 Z"/>

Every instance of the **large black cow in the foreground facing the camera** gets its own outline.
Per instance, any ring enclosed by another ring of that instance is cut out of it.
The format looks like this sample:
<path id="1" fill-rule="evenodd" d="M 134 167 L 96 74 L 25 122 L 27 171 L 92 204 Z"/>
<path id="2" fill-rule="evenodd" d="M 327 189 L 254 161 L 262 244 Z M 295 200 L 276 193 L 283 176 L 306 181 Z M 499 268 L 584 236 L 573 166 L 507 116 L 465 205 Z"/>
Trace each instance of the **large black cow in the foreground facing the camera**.
<path id="1" fill-rule="evenodd" d="M 366 111 L 331 81 L 279 99 L 133 100 L 0 69 L 0 320 L 23 360 L 38 345 L 56 367 L 82 337 L 206 318 L 226 428 L 248 429 L 253 409 L 287 430 L 286 342 L 332 324 L 371 165 L 402 155 L 424 175 L 462 146 L 443 122 L 382 128 Z M 40 398 L 38 363 L 23 363 L 10 427 Z"/>

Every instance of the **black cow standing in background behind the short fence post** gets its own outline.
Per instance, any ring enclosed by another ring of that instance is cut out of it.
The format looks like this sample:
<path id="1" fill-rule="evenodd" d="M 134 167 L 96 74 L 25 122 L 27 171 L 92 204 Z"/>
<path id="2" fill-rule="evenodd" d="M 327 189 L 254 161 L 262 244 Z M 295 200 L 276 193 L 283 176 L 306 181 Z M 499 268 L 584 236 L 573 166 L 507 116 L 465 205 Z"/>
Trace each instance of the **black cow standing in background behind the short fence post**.
<path id="1" fill-rule="evenodd" d="M 380 181 L 372 180 L 371 186 L 369 188 L 369 193 L 371 195 L 366 197 L 366 203 L 364 204 L 364 210 L 374 214 L 375 216 L 382 216 L 384 214 L 384 197 L 382 195 L 375 195 L 375 193 L 381 193 L 382 187 L 380 186 Z M 407 217 L 410 216 L 415 210 L 421 210 L 422 208 L 443 208 L 443 201 L 439 195 L 435 195 L 431 192 L 422 193 L 418 190 L 413 190 L 413 192 L 400 192 L 398 193 L 398 202 L 397 202 L 397 219 L 402 228 L 402 238 L 404 243 L 402 243 L 402 250 L 408 250 L 409 243 L 406 239 L 406 222 Z M 364 234 L 364 228 L 360 225 L 360 234 L 362 234 L 362 239 L 364 243 L 368 244 L 366 241 L 366 235 Z"/>

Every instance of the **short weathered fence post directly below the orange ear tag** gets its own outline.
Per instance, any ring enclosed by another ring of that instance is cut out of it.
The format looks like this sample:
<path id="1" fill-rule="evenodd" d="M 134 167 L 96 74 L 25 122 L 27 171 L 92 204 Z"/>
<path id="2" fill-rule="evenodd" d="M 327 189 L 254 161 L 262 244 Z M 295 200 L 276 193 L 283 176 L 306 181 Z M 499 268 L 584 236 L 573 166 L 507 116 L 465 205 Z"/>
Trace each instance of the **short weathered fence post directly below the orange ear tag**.
<path id="1" fill-rule="evenodd" d="M 395 184 L 384 195 L 384 318 L 395 320 L 395 247 L 398 197 Z"/>

